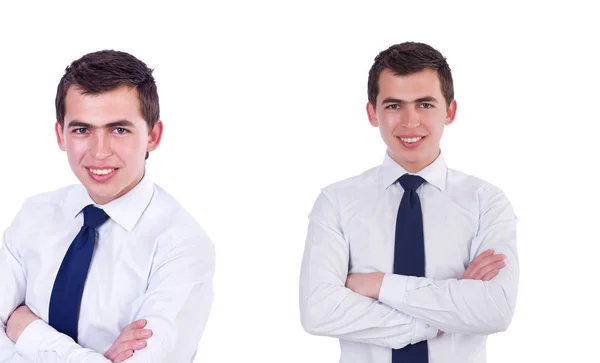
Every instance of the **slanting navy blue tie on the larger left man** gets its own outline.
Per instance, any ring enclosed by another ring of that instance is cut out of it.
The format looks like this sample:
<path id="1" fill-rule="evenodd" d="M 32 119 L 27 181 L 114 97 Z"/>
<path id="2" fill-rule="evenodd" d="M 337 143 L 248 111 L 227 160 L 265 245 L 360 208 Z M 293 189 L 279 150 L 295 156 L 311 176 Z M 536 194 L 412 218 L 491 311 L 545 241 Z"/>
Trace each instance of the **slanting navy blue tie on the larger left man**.
<path id="1" fill-rule="evenodd" d="M 77 323 L 81 296 L 96 245 L 96 228 L 108 220 L 108 215 L 93 205 L 83 208 L 83 227 L 75 236 L 56 274 L 48 323 L 77 342 Z"/>

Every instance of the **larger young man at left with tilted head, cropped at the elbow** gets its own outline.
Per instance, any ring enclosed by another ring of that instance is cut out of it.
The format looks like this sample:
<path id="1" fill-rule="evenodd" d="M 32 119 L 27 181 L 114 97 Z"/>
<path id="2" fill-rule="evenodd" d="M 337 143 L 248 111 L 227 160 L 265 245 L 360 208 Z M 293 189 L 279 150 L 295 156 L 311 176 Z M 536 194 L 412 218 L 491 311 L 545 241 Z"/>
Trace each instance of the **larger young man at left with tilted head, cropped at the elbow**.
<path id="1" fill-rule="evenodd" d="M 26 200 L 4 233 L 0 361 L 191 362 L 214 248 L 146 173 L 163 131 L 152 70 L 87 54 L 60 80 L 56 116 L 81 184 Z"/>

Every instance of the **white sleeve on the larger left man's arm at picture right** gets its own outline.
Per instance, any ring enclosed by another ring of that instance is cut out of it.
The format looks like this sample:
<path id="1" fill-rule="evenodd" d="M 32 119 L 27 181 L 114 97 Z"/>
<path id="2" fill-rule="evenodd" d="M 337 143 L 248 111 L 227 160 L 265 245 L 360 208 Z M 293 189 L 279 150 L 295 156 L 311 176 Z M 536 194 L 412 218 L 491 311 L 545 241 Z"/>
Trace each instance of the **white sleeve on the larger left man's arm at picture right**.
<path id="1" fill-rule="evenodd" d="M 207 236 L 170 242 L 157 248 L 146 293 L 132 306 L 130 322 L 146 319 L 153 335 L 127 362 L 191 362 L 204 332 L 213 300 L 214 246 Z M 23 331 L 17 349 L 40 363 L 110 362 L 41 320 Z"/>

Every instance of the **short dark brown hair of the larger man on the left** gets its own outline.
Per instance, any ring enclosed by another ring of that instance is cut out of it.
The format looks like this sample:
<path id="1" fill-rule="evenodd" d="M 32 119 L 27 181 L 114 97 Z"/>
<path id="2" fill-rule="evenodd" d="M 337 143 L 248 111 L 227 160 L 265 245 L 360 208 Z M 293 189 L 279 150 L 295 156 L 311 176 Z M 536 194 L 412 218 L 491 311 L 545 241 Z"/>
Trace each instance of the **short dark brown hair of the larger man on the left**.
<path id="1" fill-rule="evenodd" d="M 140 100 L 140 111 L 152 131 L 160 119 L 158 92 L 152 76 L 153 70 L 131 54 L 116 50 L 88 53 L 65 69 L 56 90 L 56 120 L 61 126 L 65 121 L 65 98 L 71 86 L 77 86 L 83 94 L 100 94 L 121 86 L 133 87 Z"/>

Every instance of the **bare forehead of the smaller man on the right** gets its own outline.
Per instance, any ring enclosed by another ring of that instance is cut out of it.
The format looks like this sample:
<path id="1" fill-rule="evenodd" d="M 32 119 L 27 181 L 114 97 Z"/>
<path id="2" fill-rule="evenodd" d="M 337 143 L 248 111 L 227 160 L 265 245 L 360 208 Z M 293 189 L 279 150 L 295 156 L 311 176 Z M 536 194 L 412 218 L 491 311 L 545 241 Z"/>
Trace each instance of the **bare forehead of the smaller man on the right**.
<path id="1" fill-rule="evenodd" d="M 440 79 L 436 70 L 425 68 L 422 71 L 408 75 L 396 75 L 385 69 L 379 75 L 379 94 L 377 99 L 395 97 L 412 100 L 421 97 L 442 97 Z"/>

